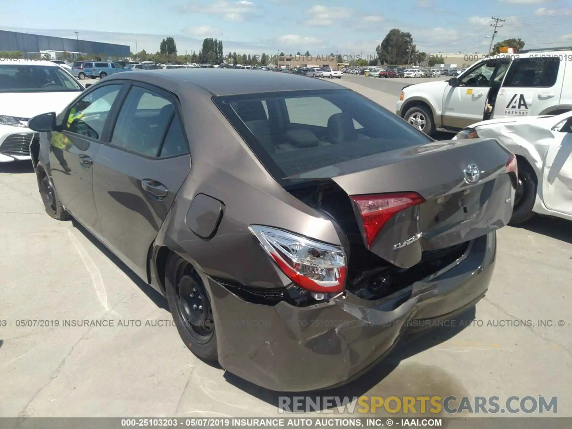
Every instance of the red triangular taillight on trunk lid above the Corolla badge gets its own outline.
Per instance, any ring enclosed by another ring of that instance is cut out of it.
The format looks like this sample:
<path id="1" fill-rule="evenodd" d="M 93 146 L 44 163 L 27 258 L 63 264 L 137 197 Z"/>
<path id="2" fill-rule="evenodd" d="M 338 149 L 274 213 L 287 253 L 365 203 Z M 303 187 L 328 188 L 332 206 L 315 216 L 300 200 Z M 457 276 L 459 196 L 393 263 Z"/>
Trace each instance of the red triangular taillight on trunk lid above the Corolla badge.
<path id="1" fill-rule="evenodd" d="M 425 202 L 425 199 L 415 192 L 354 195 L 350 198 L 358 208 L 360 215 L 362 215 L 367 248 L 371 247 L 383 225 L 395 213 Z"/>

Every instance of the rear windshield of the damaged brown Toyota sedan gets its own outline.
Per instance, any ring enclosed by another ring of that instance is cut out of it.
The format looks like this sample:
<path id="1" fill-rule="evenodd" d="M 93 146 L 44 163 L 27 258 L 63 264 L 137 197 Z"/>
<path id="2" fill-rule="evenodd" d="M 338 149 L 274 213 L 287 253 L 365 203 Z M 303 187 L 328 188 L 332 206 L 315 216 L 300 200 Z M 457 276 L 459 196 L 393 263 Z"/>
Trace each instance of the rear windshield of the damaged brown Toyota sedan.
<path id="1" fill-rule="evenodd" d="M 368 98 L 344 89 L 213 100 L 279 182 L 290 176 L 333 177 L 336 169 L 329 166 L 432 141 Z"/>

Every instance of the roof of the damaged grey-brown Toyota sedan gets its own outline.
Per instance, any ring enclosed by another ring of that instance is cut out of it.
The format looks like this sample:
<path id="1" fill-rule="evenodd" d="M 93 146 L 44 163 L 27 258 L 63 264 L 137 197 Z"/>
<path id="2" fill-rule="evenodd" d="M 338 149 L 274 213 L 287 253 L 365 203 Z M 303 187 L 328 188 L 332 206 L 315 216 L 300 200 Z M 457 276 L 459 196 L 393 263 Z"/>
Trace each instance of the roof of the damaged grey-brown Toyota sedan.
<path id="1" fill-rule="evenodd" d="M 129 76 L 125 76 L 128 74 Z M 178 88 L 194 84 L 208 91 L 213 96 L 230 96 L 240 94 L 254 94 L 277 91 L 316 90 L 316 89 L 344 89 L 343 87 L 317 79 L 308 79 L 296 76 L 293 73 L 266 73 L 255 70 L 254 73 L 237 73 L 233 69 L 175 69 L 168 74 L 162 70 L 148 70 L 137 73 L 118 73 L 108 76 L 106 80 L 137 80 L 162 86 Z"/>

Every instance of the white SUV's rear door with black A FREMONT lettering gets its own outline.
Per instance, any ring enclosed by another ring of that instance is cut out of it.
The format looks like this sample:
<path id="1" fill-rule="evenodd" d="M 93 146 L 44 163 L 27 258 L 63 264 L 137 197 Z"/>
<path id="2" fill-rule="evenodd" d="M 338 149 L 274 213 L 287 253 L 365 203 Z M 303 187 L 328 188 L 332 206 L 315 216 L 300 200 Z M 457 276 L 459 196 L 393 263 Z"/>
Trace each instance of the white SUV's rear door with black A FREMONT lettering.
<path id="1" fill-rule="evenodd" d="M 496 97 L 492 117 L 538 116 L 557 110 L 565 66 L 559 57 L 515 59 Z"/>

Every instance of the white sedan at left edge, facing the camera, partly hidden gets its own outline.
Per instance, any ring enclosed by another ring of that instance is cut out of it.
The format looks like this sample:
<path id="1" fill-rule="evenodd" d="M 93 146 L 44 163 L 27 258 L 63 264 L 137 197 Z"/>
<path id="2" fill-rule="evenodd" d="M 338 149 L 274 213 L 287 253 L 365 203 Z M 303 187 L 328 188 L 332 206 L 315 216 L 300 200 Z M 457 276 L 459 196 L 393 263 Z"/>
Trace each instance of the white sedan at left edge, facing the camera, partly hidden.
<path id="1" fill-rule="evenodd" d="M 38 133 L 28 127 L 31 117 L 61 109 L 84 88 L 51 61 L 4 59 L 0 62 L 0 162 L 30 159 L 30 142 Z"/>

